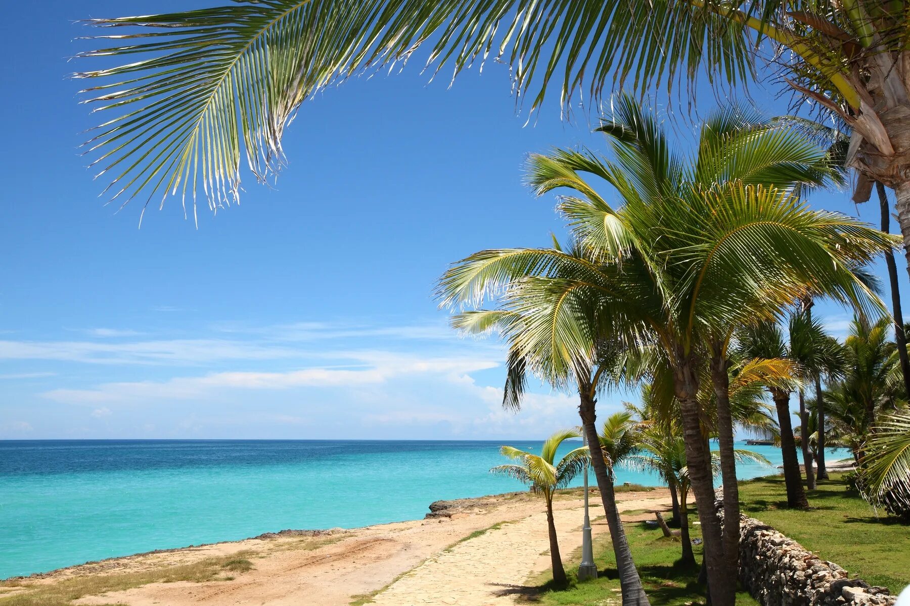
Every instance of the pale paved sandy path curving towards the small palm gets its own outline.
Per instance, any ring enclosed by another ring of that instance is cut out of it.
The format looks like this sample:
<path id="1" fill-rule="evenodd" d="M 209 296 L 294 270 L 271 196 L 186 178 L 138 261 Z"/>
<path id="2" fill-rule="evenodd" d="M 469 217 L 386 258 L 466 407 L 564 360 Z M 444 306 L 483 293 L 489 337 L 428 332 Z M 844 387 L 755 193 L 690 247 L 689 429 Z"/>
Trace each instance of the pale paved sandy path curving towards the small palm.
<path id="1" fill-rule="evenodd" d="M 622 503 L 623 510 L 668 505 L 663 499 Z M 597 510 L 595 510 L 596 512 Z M 560 552 L 566 558 L 581 546 L 580 507 L 554 514 Z M 594 534 L 607 532 L 606 522 L 591 524 Z M 507 606 L 532 572 L 551 566 L 546 513 L 535 513 L 502 525 L 425 561 L 375 598 L 376 606 Z"/>

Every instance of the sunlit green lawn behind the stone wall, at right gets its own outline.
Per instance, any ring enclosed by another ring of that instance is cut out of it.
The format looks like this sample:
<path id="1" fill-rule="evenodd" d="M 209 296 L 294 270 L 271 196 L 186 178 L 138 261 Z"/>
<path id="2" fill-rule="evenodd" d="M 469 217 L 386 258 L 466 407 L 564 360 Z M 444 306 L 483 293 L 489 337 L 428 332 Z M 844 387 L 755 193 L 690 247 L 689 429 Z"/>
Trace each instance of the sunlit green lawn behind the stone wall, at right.
<path id="1" fill-rule="evenodd" d="M 849 492 L 842 473 L 808 491 L 811 509 L 786 509 L 783 476 L 740 482 L 745 515 L 773 526 L 822 560 L 833 561 L 851 574 L 892 593 L 910 584 L 910 526 L 875 511 Z"/>

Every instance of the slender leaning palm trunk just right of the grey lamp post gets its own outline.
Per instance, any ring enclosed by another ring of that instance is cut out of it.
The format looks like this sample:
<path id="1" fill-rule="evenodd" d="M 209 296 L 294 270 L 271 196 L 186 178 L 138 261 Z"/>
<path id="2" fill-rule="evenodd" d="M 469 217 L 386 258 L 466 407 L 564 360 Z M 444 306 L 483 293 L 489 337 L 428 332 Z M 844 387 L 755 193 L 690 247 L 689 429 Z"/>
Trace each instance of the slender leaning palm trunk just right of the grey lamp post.
<path id="1" fill-rule="evenodd" d="M 620 512 L 616 509 L 612 472 L 607 468 L 607 462 L 603 459 L 603 451 L 597 447 L 601 440 L 597 435 L 597 426 L 594 424 L 597 420 L 594 412 L 596 402 L 583 387 L 579 391 L 581 392 L 581 403 L 579 404 L 581 426 L 588 438 L 588 444 L 591 445 L 591 467 L 594 468 L 597 488 L 601 491 L 603 512 L 606 514 L 607 526 L 610 527 L 610 539 L 613 543 L 613 554 L 616 557 L 616 571 L 619 573 L 620 588 L 622 589 L 622 606 L 651 606 L 648 596 L 644 593 L 642 579 L 635 568 L 635 562 L 632 561 L 632 550 L 629 548 L 629 541 L 626 540 L 625 530 L 622 528 Z"/>

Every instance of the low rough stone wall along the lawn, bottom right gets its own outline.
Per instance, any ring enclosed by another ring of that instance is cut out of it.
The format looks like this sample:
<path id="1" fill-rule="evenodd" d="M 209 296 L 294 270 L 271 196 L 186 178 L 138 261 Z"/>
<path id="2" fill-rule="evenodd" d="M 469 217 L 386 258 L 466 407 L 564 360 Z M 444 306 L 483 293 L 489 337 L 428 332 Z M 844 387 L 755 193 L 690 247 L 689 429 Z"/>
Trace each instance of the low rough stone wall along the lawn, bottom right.
<path id="1" fill-rule="evenodd" d="M 896 601 L 885 587 L 850 579 L 837 564 L 745 516 L 739 574 L 743 588 L 762 606 L 894 606 Z"/>

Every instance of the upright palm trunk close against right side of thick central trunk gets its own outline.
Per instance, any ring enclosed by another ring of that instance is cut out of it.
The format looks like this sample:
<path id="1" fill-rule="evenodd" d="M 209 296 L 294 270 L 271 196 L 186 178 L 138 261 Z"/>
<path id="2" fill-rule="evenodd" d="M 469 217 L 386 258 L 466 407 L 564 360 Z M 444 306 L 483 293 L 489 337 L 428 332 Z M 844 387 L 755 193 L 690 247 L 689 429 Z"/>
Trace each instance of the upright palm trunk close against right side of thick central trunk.
<path id="1" fill-rule="evenodd" d="M 717 348 L 715 351 L 719 351 Z M 723 554 L 726 573 L 736 578 L 739 569 L 739 484 L 736 483 L 736 454 L 733 447 L 733 415 L 730 412 L 730 373 L 725 356 L 711 358 L 711 380 L 717 402 L 717 437 L 721 451 L 723 482 Z M 690 547 L 691 549 L 691 547 Z"/>

